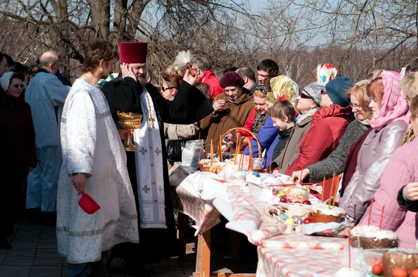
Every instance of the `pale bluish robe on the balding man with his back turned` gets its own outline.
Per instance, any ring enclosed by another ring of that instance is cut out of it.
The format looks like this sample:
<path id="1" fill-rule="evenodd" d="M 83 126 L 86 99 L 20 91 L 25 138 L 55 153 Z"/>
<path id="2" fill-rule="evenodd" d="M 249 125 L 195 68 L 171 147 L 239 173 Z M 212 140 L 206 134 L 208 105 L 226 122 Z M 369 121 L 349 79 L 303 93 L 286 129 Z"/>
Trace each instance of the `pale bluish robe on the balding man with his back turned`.
<path id="1" fill-rule="evenodd" d="M 56 211 L 56 185 L 62 161 L 58 122 L 68 91 L 69 86 L 46 72 L 37 73 L 26 88 L 24 100 L 31 105 L 38 159 L 38 166 L 27 178 L 27 209 Z M 59 107 L 58 121 L 54 106 Z"/>

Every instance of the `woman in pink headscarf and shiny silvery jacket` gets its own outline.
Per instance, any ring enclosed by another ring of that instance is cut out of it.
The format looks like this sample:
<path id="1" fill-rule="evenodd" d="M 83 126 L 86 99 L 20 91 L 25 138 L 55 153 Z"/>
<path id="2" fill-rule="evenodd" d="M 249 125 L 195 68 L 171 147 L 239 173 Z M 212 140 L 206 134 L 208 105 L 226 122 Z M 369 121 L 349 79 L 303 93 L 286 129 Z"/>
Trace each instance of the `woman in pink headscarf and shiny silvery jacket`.
<path id="1" fill-rule="evenodd" d="M 405 94 L 400 88 L 401 75 L 392 71 L 382 72 L 382 76 L 371 81 L 367 87 L 373 129 L 359 150 L 356 171 L 339 204 L 351 224 L 362 219 L 369 207 L 379 188 L 383 170 L 401 145 L 410 122 Z"/>

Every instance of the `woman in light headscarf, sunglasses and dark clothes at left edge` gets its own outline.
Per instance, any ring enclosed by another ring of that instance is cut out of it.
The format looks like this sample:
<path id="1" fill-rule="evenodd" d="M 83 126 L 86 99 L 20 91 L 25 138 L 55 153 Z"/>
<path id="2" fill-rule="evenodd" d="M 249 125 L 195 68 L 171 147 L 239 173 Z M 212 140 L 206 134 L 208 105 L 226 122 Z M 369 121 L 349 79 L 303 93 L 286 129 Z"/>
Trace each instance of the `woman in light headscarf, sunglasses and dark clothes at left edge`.
<path id="1" fill-rule="evenodd" d="M 0 78 L 0 248 L 6 249 L 11 248 L 6 237 L 13 234 L 20 184 L 36 167 L 31 107 L 20 97 L 23 81 L 23 74 L 16 72 Z"/>

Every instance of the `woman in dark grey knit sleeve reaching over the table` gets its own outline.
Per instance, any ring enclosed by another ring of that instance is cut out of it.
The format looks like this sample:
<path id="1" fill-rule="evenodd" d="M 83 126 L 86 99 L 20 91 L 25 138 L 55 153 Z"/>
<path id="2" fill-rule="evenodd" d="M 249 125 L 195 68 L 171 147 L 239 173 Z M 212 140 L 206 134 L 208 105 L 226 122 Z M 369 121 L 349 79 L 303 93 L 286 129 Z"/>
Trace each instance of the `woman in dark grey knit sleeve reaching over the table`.
<path id="1" fill-rule="evenodd" d="M 336 175 L 343 173 L 350 146 L 370 127 L 370 99 L 366 93 L 366 86 L 369 82 L 368 80 L 359 81 L 346 92 L 346 95 L 350 97 L 356 119 L 348 125 L 346 132 L 339 141 L 338 147 L 327 159 L 316 164 L 304 166 L 302 180 L 309 176 L 309 182 L 320 182 L 323 180 L 323 177 L 327 179 L 332 177 L 333 173 L 336 173 Z M 292 173 L 293 182 L 300 178 L 300 174 L 300 171 Z"/>

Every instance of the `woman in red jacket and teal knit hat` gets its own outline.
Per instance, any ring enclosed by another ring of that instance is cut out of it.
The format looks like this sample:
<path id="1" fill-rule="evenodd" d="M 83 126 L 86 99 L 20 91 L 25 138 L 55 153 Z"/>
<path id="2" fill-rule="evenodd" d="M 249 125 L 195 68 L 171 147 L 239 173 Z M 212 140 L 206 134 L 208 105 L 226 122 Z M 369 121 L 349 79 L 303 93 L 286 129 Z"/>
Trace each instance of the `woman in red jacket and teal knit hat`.
<path id="1" fill-rule="evenodd" d="M 299 157 L 288 167 L 286 175 L 325 159 L 338 146 L 339 138 L 350 122 L 350 98 L 344 93 L 351 86 L 353 83 L 348 77 L 339 77 L 327 83 L 321 96 L 322 109 L 314 113 L 311 127 L 300 142 Z"/>

